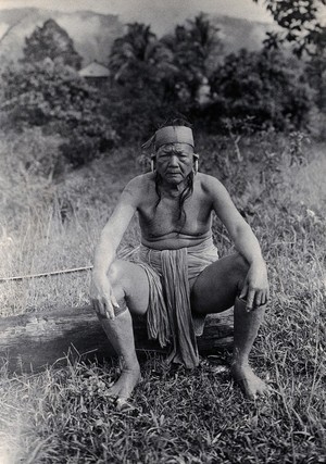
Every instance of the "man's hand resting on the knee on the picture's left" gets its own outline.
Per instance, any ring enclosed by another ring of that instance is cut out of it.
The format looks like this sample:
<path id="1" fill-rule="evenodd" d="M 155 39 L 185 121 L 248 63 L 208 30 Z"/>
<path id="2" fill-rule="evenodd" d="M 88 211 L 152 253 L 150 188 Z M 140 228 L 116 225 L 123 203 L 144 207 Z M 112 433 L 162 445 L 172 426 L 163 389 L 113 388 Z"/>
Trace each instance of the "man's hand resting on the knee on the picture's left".
<path id="1" fill-rule="evenodd" d="M 113 294 L 111 284 L 106 276 L 92 276 L 90 299 L 99 317 L 114 319 L 114 308 L 120 308 Z"/>

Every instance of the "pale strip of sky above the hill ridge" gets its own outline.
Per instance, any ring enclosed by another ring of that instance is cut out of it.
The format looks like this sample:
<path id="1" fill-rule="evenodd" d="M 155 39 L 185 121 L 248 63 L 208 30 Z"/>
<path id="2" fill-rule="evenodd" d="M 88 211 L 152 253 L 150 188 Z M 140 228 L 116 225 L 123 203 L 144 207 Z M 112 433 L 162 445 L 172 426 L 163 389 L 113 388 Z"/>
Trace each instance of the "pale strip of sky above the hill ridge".
<path id="1" fill-rule="evenodd" d="M 199 11 L 226 14 L 247 20 L 271 22 L 263 1 L 252 0 L 0 0 L 0 9 L 37 7 L 49 10 L 91 10 L 118 14 L 124 22 L 138 21 L 152 24 L 159 32 L 160 17 L 172 22 L 191 17 Z"/>

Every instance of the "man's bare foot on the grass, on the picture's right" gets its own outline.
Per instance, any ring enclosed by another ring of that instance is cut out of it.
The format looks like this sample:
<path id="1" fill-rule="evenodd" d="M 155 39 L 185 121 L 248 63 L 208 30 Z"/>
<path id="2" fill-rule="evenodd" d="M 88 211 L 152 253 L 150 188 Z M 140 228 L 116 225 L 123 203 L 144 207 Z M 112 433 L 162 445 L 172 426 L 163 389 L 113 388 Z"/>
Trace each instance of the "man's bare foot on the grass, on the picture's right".
<path id="1" fill-rule="evenodd" d="M 246 397 L 251 400 L 254 400 L 260 394 L 268 393 L 267 385 L 254 374 L 249 364 L 233 364 L 230 372 Z"/>

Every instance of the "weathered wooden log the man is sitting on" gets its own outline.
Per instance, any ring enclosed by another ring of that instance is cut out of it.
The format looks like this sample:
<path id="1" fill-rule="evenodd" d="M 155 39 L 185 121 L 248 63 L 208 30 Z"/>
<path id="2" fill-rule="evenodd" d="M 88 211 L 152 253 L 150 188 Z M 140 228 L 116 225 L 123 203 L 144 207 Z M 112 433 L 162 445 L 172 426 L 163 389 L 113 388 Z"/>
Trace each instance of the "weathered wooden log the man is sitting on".
<path id="1" fill-rule="evenodd" d="M 148 340 L 146 325 L 134 319 L 137 350 L 158 350 Z M 208 316 L 205 329 L 198 338 L 200 352 L 229 348 L 233 342 L 233 312 Z M 9 372 L 38 372 L 47 365 L 66 364 L 66 354 L 83 359 L 113 356 L 110 344 L 91 306 L 28 313 L 0 319 L 0 359 Z"/>

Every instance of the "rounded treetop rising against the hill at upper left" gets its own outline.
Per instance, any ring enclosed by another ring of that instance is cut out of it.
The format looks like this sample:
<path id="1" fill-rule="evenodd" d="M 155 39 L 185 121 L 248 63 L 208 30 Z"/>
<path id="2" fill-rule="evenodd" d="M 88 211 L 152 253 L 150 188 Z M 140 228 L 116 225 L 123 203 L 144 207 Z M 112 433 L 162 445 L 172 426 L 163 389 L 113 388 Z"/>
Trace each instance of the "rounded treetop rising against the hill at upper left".
<path id="1" fill-rule="evenodd" d="M 82 65 L 82 57 L 74 49 L 73 40 L 53 20 L 46 21 L 25 39 L 24 62 L 38 63 L 47 58 L 60 59 L 75 70 Z"/>

